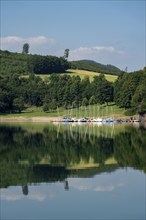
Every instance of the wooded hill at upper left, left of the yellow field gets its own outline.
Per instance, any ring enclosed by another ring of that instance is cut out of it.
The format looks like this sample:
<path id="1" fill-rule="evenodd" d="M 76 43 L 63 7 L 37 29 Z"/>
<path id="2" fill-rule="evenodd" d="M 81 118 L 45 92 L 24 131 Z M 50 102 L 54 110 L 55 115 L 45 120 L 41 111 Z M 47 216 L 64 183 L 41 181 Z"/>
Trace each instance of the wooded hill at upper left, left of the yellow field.
<path id="1" fill-rule="evenodd" d="M 70 68 L 63 57 L 30 55 L 26 52 L 12 53 L 0 50 L 0 75 L 64 73 Z"/>

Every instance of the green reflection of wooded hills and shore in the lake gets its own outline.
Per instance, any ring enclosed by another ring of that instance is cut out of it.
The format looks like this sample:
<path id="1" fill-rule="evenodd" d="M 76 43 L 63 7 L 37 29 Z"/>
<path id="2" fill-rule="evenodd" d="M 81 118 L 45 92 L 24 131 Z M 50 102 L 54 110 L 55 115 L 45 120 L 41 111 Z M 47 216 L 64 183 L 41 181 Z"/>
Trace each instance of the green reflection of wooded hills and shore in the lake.
<path id="1" fill-rule="evenodd" d="M 146 130 L 99 124 L 1 124 L 0 188 L 90 178 L 119 167 L 146 173 Z"/>

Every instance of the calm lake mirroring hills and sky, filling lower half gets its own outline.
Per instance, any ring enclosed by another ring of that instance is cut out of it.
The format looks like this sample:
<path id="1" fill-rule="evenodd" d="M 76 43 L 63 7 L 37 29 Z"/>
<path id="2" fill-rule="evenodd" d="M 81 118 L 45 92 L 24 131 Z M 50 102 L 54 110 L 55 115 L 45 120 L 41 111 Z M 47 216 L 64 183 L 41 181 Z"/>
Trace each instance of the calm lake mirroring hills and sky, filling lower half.
<path id="1" fill-rule="evenodd" d="M 146 219 L 146 130 L 0 123 L 2 220 Z"/>

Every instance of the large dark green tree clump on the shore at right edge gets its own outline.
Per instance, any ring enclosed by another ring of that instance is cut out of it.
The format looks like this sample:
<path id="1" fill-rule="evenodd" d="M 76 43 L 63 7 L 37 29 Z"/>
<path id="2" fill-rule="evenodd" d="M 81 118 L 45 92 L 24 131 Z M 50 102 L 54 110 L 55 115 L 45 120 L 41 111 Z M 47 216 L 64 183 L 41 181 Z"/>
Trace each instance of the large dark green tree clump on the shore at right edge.
<path id="1" fill-rule="evenodd" d="M 114 100 L 119 107 L 132 108 L 134 113 L 146 113 L 145 69 L 121 75 L 114 85 Z M 128 113 L 128 112 L 127 112 Z"/>

